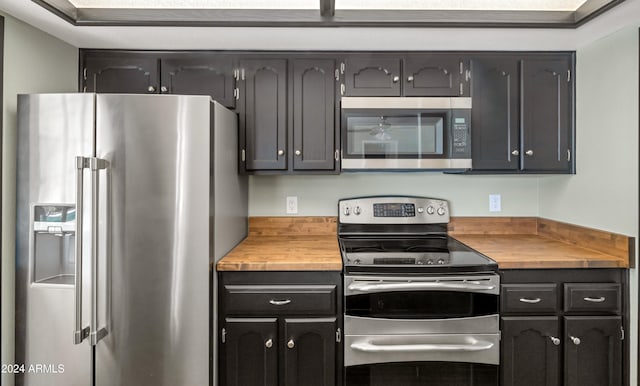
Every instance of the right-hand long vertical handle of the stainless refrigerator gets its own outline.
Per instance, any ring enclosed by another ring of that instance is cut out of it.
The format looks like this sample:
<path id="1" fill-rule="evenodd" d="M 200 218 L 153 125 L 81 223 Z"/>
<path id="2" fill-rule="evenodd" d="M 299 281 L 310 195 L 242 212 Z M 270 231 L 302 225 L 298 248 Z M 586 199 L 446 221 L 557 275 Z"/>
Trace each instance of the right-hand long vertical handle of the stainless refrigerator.
<path id="1" fill-rule="evenodd" d="M 100 170 L 107 169 L 108 162 L 106 160 L 92 157 L 89 159 L 91 169 L 91 345 L 95 346 L 98 342 L 107 336 L 108 331 L 105 327 L 98 330 L 98 226 L 99 222 L 99 188 L 100 188 Z"/>

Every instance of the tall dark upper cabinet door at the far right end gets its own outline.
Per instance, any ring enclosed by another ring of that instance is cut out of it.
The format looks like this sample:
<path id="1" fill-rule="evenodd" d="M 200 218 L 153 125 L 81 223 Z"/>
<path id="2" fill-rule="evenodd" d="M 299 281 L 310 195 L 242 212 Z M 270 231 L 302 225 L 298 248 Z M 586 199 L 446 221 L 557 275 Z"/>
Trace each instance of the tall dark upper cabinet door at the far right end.
<path id="1" fill-rule="evenodd" d="M 571 171 L 571 59 L 522 62 L 522 169 Z"/>

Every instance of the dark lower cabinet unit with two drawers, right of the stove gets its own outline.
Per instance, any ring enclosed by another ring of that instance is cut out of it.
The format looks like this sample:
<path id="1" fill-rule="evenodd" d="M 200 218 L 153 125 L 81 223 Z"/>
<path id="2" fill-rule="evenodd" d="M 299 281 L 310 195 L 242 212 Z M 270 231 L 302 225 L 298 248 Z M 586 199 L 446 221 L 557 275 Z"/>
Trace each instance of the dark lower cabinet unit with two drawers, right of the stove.
<path id="1" fill-rule="evenodd" d="M 504 270 L 501 275 L 503 386 L 628 384 L 626 270 Z"/>

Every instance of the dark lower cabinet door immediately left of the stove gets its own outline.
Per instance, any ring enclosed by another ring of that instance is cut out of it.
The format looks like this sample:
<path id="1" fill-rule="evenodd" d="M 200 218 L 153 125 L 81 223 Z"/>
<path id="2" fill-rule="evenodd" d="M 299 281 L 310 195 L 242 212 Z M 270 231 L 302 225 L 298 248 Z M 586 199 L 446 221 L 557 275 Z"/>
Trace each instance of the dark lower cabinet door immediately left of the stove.
<path id="1" fill-rule="evenodd" d="M 336 384 L 336 319 L 285 319 L 284 385 Z"/>

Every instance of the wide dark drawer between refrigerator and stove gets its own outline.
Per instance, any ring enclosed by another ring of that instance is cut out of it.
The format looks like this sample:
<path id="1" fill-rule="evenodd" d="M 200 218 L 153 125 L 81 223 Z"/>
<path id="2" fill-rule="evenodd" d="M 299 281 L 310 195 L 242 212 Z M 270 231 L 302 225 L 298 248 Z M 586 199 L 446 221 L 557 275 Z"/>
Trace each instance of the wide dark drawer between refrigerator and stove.
<path id="1" fill-rule="evenodd" d="M 335 315 L 335 285 L 225 285 L 226 313 Z"/>

